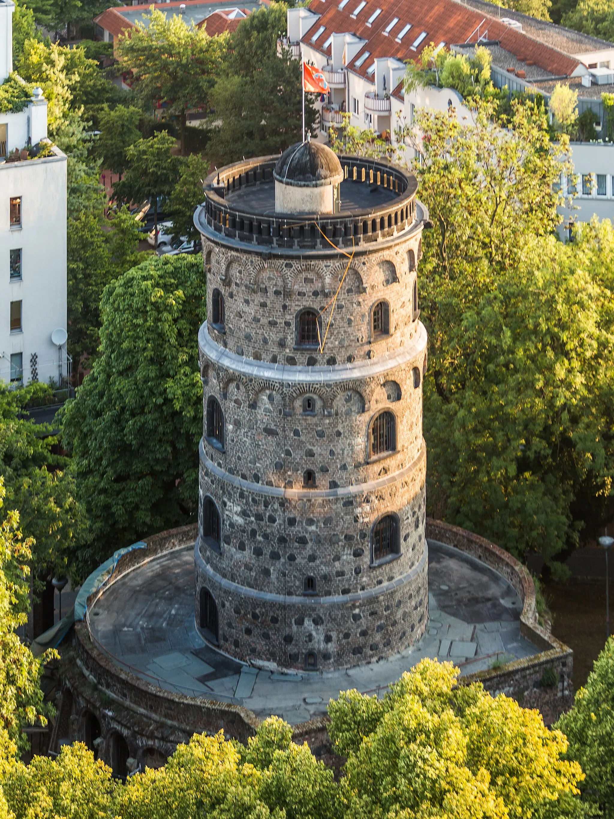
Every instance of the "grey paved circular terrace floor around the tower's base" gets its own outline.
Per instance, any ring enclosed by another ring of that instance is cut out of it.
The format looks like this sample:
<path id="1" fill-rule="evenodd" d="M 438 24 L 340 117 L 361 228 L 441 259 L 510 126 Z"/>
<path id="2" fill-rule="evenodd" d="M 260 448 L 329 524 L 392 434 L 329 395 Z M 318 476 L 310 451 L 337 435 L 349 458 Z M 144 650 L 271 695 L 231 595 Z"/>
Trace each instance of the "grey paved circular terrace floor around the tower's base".
<path id="1" fill-rule="evenodd" d="M 278 714 L 291 725 L 322 716 L 329 699 L 356 688 L 379 693 L 422 658 L 461 674 L 537 654 L 521 636 L 521 600 L 499 573 L 449 545 L 428 541 L 429 628 L 401 654 L 333 672 L 283 674 L 238 663 L 207 645 L 194 622 L 193 546 L 121 576 L 90 610 L 99 647 L 161 689 Z"/>

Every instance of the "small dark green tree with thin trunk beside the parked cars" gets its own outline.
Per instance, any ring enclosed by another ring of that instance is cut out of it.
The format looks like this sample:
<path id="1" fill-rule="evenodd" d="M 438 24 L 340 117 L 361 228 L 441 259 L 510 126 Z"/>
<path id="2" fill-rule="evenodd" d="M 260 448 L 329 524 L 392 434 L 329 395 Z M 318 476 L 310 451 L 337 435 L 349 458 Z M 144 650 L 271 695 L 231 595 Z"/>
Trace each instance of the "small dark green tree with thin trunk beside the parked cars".
<path id="1" fill-rule="evenodd" d="M 174 138 L 160 131 L 149 139 L 138 139 L 126 150 L 129 168 L 114 192 L 124 201 L 150 199 L 154 206 L 154 230 L 158 244 L 158 197 L 169 197 L 178 183 L 180 161 L 172 154 Z"/>

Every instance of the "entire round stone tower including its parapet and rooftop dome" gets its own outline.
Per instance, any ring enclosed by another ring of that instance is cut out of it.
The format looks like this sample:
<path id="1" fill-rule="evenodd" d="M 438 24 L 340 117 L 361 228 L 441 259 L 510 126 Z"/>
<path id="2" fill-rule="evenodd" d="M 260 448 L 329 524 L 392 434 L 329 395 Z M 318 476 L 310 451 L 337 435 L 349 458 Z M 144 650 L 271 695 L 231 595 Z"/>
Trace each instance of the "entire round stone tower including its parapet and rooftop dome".
<path id="1" fill-rule="evenodd" d="M 205 181 L 196 623 L 261 667 L 366 663 L 427 626 L 416 188 L 309 142 Z"/>

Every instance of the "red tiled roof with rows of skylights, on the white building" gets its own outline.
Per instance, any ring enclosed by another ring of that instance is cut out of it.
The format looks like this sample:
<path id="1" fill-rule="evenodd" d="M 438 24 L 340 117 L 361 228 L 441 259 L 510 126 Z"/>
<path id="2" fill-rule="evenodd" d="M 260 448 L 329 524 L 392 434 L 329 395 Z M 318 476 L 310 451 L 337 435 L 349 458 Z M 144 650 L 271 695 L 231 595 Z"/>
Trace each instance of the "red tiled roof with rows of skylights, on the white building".
<path id="1" fill-rule="evenodd" d="M 323 0 L 313 0 L 309 5 L 309 10 L 320 15 L 318 23 L 314 25 L 305 37 L 303 42 L 309 48 L 315 48 L 323 55 L 330 56 L 330 47 L 325 52 L 323 43 L 333 32 L 350 32 L 357 37 L 368 41 L 363 49 L 356 54 L 347 68 L 358 75 L 366 77 L 369 66 L 372 65 L 373 57 L 396 57 L 400 61 L 411 60 L 418 56 L 422 48 L 428 43 L 445 43 L 446 45 L 465 43 L 471 38 L 476 41 L 476 29 L 480 26 L 480 35 L 485 34 L 488 29 L 489 40 L 499 40 L 502 48 L 515 54 L 522 60 L 532 60 L 536 66 L 548 71 L 551 75 L 569 76 L 576 70 L 579 61 L 567 54 L 557 51 L 555 48 L 539 43 L 537 40 L 521 34 L 508 25 L 504 25 L 494 17 L 486 16 L 475 11 L 471 7 L 465 7 L 453 0 L 368 0 L 356 19 L 351 15 L 359 6 L 359 0 L 349 0 L 343 9 L 339 9 L 340 0 L 334 2 L 323 2 Z M 373 12 L 381 8 L 381 14 L 373 21 L 372 25 L 367 25 L 368 19 Z M 391 29 L 390 34 L 384 34 L 384 29 L 395 18 L 399 22 Z M 401 43 L 397 43 L 395 36 L 400 33 L 404 25 L 411 24 L 411 29 L 404 35 Z M 326 30 L 318 38 L 318 43 L 311 43 L 311 37 L 320 25 L 326 26 Z M 412 49 L 412 43 L 423 31 L 427 32 L 427 37 L 422 40 L 416 49 Z M 355 67 L 355 61 L 365 51 L 370 52 L 367 60 L 362 66 Z"/>

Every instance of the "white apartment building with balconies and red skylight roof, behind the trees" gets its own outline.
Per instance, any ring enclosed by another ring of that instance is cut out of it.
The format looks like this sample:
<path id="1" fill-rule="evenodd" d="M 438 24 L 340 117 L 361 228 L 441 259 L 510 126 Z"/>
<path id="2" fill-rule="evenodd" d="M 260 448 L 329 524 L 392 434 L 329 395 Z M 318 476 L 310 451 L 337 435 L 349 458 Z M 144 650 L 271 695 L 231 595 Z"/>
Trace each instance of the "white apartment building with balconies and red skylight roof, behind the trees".
<path id="1" fill-rule="evenodd" d="M 323 70 L 331 91 L 320 109 L 325 138 L 332 124 L 350 112 L 352 125 L 390 136 L 399 124 L 411 124 L 418 107 L 445 111 L 472 121 L 462 97 L 450 88 L 416 88 L 404 93 L 405 63 L 435 43 L 471 52 L 477 44 L 490 50 L 495 86 L 539 92 L 546 102 L 557 82 L 578 91 L 580 114 L 590 107 L 605 138 L 603 91 L 614 93 L 614 44 L 560 25 L 500 9 L 485 0 L 313 0 L 309 7 L 287 11 L 288 46 L 295 57 Z M 564 193 L 576 195 L 571 220 L 595 213 L 614 222 L 614 144 L 572 143 L 576 178 L 562 179 Z M 408 160 L 413 156 L 408 156 Z"/>

